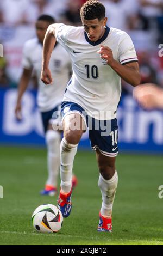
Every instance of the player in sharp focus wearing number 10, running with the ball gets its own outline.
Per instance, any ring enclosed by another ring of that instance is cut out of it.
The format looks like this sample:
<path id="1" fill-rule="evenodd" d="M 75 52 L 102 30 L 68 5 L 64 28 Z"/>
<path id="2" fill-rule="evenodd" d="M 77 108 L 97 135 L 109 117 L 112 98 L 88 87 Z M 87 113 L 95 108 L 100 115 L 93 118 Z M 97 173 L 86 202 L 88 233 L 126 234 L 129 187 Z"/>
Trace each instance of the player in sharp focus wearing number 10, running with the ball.
<path id="1" fill-rule="evenodd" d="M 118 182 L 115 168 L 118 154 L 116 111 L 121 96 L 121 78 L 137 86 L 140 83 L 139 64 L 130 36 L 106 26 L 105 7 L 101 2 L 87 1 L 80 15 L 83 27 L 51 25 L 43 42 L 41 80 L 45 84 L 52 82 L 48 66 L 56 40 L 70 53 L 73 69 L 61 105 L 64 138 L 61 141 L 58 206 L 64 217 L 70 215 L 73 160 L 82 133 L 88 126 L 91 147 L 96 150 L 100 173 L 98 184 L 102 193 L 97 230 L 111 232 L 112 205 Z M 81 123 L 74 130 L 74 120 L 77 119 Z M 106 130 L 110 125 L 109 134 L 103 135 L 101 123 L 108 125 Z"/>

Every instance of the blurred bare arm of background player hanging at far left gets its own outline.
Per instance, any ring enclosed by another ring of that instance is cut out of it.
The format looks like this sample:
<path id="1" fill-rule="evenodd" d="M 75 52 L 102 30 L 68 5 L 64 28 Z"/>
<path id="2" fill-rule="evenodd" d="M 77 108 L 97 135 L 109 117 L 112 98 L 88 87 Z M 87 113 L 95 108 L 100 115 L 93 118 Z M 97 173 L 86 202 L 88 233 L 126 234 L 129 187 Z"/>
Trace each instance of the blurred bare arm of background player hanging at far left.
<path id="1" fill-rule="evenodd" d="M 18 95 L 15 107 L 15 116 L 18 120 L 22 119 L 22 96 L 28 87 L 30 77 L 32 74 L 32 69 L 23 69 L 20 82 L 18 84 Z"/>

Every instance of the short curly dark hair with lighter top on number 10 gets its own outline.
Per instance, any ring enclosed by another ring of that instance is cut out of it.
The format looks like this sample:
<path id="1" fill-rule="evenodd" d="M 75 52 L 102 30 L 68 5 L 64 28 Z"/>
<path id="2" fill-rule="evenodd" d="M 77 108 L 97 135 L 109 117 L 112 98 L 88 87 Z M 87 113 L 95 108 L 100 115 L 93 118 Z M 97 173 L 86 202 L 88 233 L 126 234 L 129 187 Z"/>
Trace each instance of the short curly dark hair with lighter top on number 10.
<path id="1" fill-rule="evenodd" d="M 88 0 L 80 9 L 80 17 L 82 20 L 98 19 L 101 21 L 105 17 L 105 7 L 97 0 Z"/>

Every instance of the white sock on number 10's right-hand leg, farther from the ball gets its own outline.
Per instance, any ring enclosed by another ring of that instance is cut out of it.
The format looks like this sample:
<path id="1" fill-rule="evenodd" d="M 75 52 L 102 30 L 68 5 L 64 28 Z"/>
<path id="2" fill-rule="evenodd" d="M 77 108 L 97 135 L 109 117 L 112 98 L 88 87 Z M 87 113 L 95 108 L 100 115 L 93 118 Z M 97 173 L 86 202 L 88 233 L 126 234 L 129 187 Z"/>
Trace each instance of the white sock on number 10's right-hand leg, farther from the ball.
<path id="1" fill-rule="evenodd" d="M 117 184 L 118 174 L 116 171 L 110 180 L 105 180 L 101 174 L 99 175 L 98 186 L 101 190 L 103 200 L 101 214 L 104 216 L 111 217 Z"/>

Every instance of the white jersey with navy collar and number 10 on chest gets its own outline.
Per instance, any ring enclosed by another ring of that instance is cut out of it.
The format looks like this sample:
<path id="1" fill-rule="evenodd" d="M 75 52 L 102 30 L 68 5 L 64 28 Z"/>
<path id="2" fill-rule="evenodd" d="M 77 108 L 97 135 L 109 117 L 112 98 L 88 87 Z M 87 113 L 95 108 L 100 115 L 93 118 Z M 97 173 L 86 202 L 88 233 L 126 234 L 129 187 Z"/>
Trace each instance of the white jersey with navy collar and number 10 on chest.
<path id="1" fill-rule="evenodd" d="M 130 36 L 120 29 L 105 29 L 105 34 L 91 42 L 83 27 L 66 26 L 55 29 L 55 38 L 70 53 L 73 75 L 68 83 L 63 101 L 78 103 L 87 114 L 105 119 L 100 112 L 110 112 L 116 117 L 121 96 L 121 77 L 97 53 L 101 45 L 111 48 L 114 59 L 122 65 L 137 62 Z"/>

